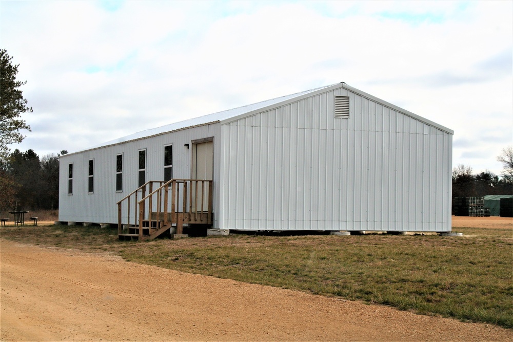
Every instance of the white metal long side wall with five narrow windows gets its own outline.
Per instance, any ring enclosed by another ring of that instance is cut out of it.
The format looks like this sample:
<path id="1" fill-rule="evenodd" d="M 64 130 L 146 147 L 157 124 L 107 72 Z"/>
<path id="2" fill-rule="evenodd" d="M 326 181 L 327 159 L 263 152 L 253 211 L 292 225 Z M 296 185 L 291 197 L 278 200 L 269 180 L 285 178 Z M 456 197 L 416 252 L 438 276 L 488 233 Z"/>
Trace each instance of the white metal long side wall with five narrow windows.
<path id="1" fill-rule="evenodd" d="M 191 151 L 184 144 L 214 137 L 214 203 L 219 212 L 220 124 L 204 125 L 133 142 L 61 156 L 59 220 L 117 223 L 116 202 L 138 187 L 138 151 L 146 149 L 146 181 L 164 180 L 164 146 L 173 144 L 173 178 L 190 178 Z M 123 191 L 116 192 L 116 155 L 123 153 Z M 94 193 L 88 193 L 88 160 L 94 158 Z M 73 195 L 68 195 L 68 164 L 73 163 Z M 124 208 L 125 209 L 125 208 Z M 124 210 L 125 212 L 125 210 Z M 126 216 L 123 221 L 126 223 Z M 214 216 L 214 219 L 216 217 Z M 214 222 L 214 226 L 217 223 Z"/>

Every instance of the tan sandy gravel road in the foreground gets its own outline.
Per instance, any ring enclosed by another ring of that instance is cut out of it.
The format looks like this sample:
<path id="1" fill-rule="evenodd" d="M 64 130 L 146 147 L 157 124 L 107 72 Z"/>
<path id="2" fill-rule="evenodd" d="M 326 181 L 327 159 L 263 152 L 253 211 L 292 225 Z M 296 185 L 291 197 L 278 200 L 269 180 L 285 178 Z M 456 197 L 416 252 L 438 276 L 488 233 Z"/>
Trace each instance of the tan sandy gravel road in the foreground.
<path id="1" fill-rule="evenodd" d="M 513 330 L 0 239 L 2 341 L 513 341 Z"/>

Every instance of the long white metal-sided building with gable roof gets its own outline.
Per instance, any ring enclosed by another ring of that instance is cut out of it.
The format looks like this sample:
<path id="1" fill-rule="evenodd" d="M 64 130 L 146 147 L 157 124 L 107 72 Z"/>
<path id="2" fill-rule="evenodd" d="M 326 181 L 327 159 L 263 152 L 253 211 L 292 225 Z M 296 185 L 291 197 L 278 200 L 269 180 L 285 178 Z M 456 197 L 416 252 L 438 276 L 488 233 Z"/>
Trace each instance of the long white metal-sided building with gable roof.
<path id="1" fill-rule="evenodd" d="M 63 155 L 59 220 L 118 223 L 116 203 L 148 180 L 212 179 L 214 229 L 450 231 L 452 134 L 330 85 Z"/>

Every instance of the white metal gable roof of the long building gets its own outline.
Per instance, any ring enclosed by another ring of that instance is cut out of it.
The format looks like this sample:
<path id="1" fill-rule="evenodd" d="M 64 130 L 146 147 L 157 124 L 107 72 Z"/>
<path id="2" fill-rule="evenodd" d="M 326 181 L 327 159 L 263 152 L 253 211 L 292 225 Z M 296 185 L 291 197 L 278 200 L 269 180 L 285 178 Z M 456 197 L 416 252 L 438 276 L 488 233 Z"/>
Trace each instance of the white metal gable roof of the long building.
<path id="1" fill-rule="evenodd" d="M 387 107 L 390 107 L 398 112 L 401 112 L 402 114 L 405 114 L 412 118 L 418 119 L 421 122 L 424 122 L 428 125 L 436 127 L 436 128 L 438 128 L 442 131 L 445 131 L 449 134 L 454 134 L 454 131 L 452 131 L 451 129 L 448 129 L 442 125 L 432 122 L 431 120 L 423 118 L 417 114 L 409 112 L 409 111 L 402 109 L 398 106 L 392 105 L 380 98 L 377 98 L 375 96 L 367 94 L 361 90 L 350 87 L 347 84 L 345 84 L 344 82 L 342 82 L 342 83 L 332 84 L 329 86 L 324 86 L 324 87 L 319 87 L 319 88 L 302 91 L 299 93 L 294 93 L 294 94 L 285 95 L 285 96 L 281 96 L 281 97 L 271 98 L 271 99 L 268 99 L 268 100 L 265 100 L 262 102 L 251 104 L 251 105 L 246 105 L 246 106 L 242 106 L 242 107 L 224 110 L 221 112 L 216 112 L 216 113 L 212 113 L 212 114 L 208 114 L 208 115 L 194 117 L 191 119 L 183 120 L 183 121 L 180 121 L 177 123 L 173 123 L 173 124 L 169 124 L 169 125 L 165 125 L 165 126 L 161 126 L 161 127 L 147 129 L 147 130 L 136 132 L 136 133 L 133 133 L 130 135 L 126 135 L 126 136 L 117 138 L 117 139 L 109 140 L 108 142 L 101 143 L 101 144 L 98 144 L 95 146 L 91 146 L 91 147 L 83 149 L 83 150 L 75 151 L 73 153 L 93 150 L 93 149 L 116 145 L 116 144 L 121 144 L 121 143 L 126 143 L 126 142 L 130 142 L 132 140 L 148 138 L 150 136 L 161 135 L 164 133 L 169 133 L 169 132 L 173 132 L 173 131 L 177 131 L 177 130 L 181 130 L 181 129 L 185 129 L 185 128 L 190 128 L 190 127 L 195 127 L 195 126 L 203 126 L 203 125 L 213 124 L 213 123 L 223 124 L 223 123 L 231 122 L 233 120 L 236 120 L 236 119 L 239 119 L 242 117 L 246 117 L 246 116 L 250 116 L 250 115 L 253 115 L 253 114 L 256 114 L 259 112 L 263 112 L 263 111 L 266 111 L 266 110 L 274 108 L 274 107 L 279 107 L 279 106 L 287 105 L 289 103 L 297 102 L 303 98 L 317 95 L 317 94 L 324 93 L 324 92 L 331 91 L 331 90 L 338 89 L 338 88 L 344 88 L 344 89 L 350 90 L 356 94 L 359 94 L 363 97 L 371 99 L 375 102 L 379 102 Z M 73 154 L 73 153 L 69 153 L 69 154 Z"/>

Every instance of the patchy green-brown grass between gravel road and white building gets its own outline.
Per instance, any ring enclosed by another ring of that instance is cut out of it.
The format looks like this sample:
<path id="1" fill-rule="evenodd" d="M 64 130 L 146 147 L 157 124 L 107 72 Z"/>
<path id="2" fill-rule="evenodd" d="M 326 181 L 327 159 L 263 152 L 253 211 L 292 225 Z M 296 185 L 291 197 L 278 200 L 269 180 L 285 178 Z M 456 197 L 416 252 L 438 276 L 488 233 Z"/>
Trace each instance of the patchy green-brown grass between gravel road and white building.
<path id="1" fill-rule="evenodd" d="M 513 329 L 513 234 L 458 228 L 464 237 L 230 235 L 119 242 L 115 229 L 7 227 L 34 245 L 109 252 L 184 272 L 231 278 Z"/>

